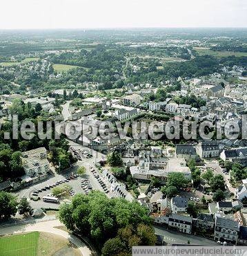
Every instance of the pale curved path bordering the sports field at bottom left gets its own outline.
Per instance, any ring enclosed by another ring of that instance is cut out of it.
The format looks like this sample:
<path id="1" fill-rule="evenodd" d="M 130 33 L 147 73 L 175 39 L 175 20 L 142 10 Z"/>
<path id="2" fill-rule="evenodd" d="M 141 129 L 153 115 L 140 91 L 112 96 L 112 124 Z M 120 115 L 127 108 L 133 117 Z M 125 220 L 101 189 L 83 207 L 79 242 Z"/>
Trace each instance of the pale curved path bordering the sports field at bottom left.
<path id="1" fill-rule="evenodd" d="M 59 220 L 54 221 L 43 221 L 38 223 L 31 223 L 23 226 L 11 226 L 7 228 L 0 228 L 0 235 L 8 235 L 8 234 L 17 234 L 20 232 L 32 232 L 32 231 L 39 231 L 39 232 L 49 232 L 54 235 L 60 235 L 71 241 L 75 246 L 77 246 L 83 256 L 92 255 L 92 251 L 90 248 L 86 246 L 79 238 L 75 237 L 64 230 L 59 228 L 55 228 L 56 226 L 63 226 L 63 224 Z"/>

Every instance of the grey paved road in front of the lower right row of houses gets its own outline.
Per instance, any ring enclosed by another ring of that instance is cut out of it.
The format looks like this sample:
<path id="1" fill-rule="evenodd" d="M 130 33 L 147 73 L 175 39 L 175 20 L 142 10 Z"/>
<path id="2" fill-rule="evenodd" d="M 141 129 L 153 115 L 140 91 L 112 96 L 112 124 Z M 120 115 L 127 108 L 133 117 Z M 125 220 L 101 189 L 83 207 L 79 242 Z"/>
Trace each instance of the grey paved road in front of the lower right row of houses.
<path id="1" fill-rule="evenodd" d="M 188 240 L 192 245 L 201 245 L 201 246 L 216 246 L 217 242 L 206 239 L 205 237 L 196 237 L 195 235 L 188 235 L 181 232 L 176 232 L 173 230 L 168 230 L 163 227 L 155 226 L 155 234 L 164 236 L 164 241 L 168 245 L 172 244 L 188 244 Z"/>

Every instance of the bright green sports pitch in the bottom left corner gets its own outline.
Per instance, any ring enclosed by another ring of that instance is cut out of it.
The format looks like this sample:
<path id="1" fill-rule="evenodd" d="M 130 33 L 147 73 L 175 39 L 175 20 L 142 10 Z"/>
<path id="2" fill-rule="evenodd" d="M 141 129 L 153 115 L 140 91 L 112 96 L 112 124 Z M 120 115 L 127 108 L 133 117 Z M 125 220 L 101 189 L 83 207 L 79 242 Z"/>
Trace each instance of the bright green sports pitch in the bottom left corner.
<path id="1" fill-rule="evenodd" d="M 0 255 L 34 256 L 37 255 L 39 232 L 24 235 L 11 235 L 0 238 Z"/>

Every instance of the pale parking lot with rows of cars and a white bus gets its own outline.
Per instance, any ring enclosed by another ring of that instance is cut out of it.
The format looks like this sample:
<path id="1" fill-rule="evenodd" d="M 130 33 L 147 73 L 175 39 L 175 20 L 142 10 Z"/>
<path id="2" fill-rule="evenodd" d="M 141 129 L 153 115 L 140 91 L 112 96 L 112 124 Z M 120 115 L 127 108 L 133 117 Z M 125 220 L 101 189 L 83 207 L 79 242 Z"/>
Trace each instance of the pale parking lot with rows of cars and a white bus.
<path id="1" fill-rule="evenodd" d="M 69 141 L 69 144 L 70 150 L 74 154 L 75 152 L 77 152 L 75 156 L 78 156 L 78 162 L 75 167 L 72 167 L 65 174 L 55 173 L 54 175 L 50 176 L 50 179 L 48 180 L 41 181 L 40 183 L 36 183 L 28 188 L 16 192 L 15 194 L 18 196 L 19 199 L 22 196 L 26 196 L 27 198 L 39 196 L 40 200 L 30 201 L 32 208 L 58 209 L 60 203 L 44 202 L 42 200 L 42 197 L 52 195 L 52 188 L 55 188 L 59 185 L 62 186 L 67 184 L 72 187 L 72 190 L 70 191 L 71 198 L 77 193 L 88 194 L 90 190 L 100 190 L 102 192 L 105 192 L 109 197 L 113 196 L 110 192 L 106 192 L 107 190 L 104 188 L 104 186 L 102 186 L 102 180 L 97 179 L 95 177 L 95 174 L 92 172 L 92 170 L 95 170 L 95 172 L 97 172 L 97 170 L 95 169 L 95 163 L 97 163 L 97 161 L 99 160 L 104 159 L 105 155 L 92 149 L 88 149 L 88 147 L 83 147 L 82 145 L 79 145 L 72 141 Z M 74 149 L 74 151 L 72 149 Z M 77 169 L 81 166 L 86 167 L 86 174 L 84 174 L 82 178 L 76 175 Z M 101 174 L 99 173 L 98 175 L 100 176 Z"/>

